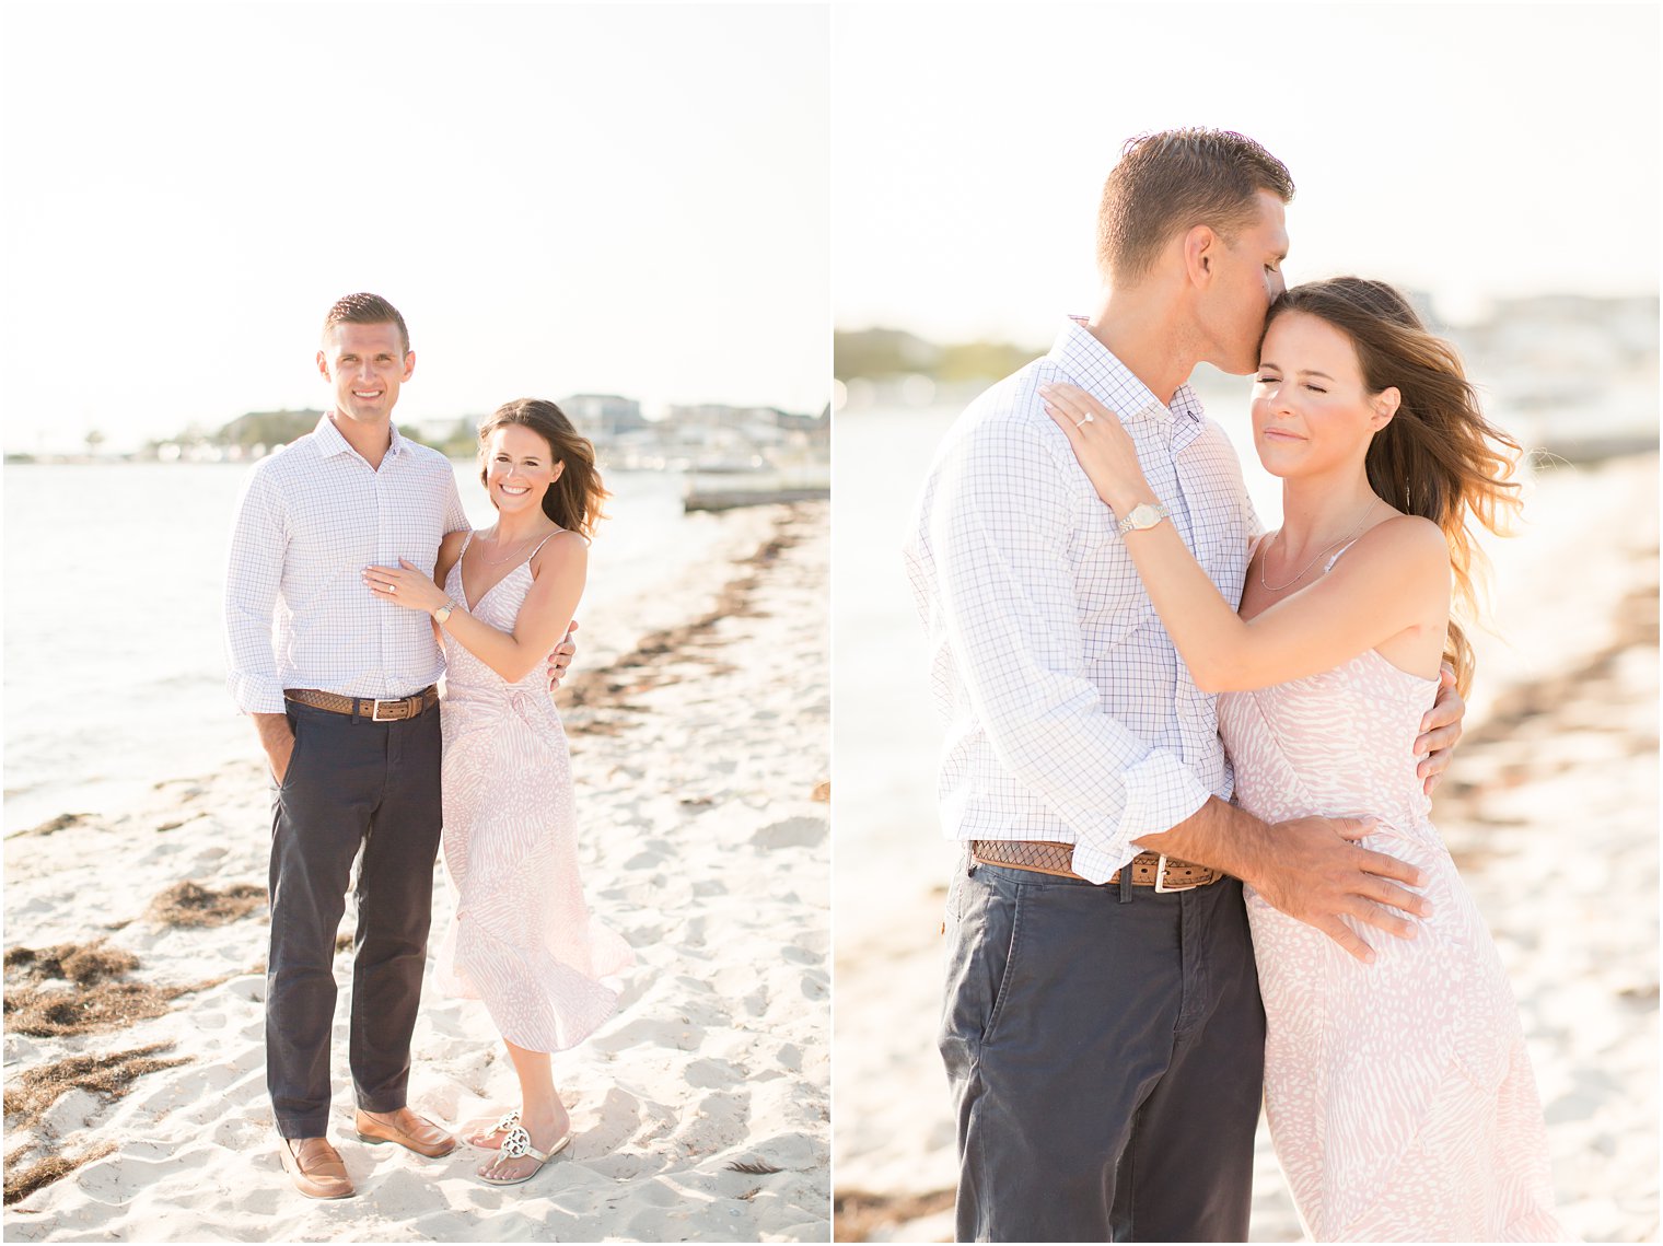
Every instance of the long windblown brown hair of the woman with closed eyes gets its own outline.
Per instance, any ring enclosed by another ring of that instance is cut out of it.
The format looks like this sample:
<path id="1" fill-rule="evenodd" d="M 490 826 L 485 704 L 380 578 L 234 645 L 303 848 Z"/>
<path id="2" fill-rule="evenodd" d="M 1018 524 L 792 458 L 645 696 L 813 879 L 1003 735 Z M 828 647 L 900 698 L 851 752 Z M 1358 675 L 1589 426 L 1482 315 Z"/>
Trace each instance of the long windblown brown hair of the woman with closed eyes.
<path id="1" fill-rule="evenodd" d="M 1520 486 L 1510 477 L 1518 443 L 1483 418 L 1455 348 L 1429 333 L 1409 299 L 1384 281 L 1337 276 L 1294 286 L 1271 306 L 1271 319 L 1289 311 L 1350 338 L 1369 393 L 1395 386 L 1402 394 L 1397 414 L 1369 444 L 1365 469 L 1382 499 L 1443 529 L 1453 576 L 1443 659 L 1467 695 L 1473 654 L 1455 616 L 1478 619 L 1478 581 L 1488 566 L 1473 524 L 1503 534 L 1517 517 Z"/>

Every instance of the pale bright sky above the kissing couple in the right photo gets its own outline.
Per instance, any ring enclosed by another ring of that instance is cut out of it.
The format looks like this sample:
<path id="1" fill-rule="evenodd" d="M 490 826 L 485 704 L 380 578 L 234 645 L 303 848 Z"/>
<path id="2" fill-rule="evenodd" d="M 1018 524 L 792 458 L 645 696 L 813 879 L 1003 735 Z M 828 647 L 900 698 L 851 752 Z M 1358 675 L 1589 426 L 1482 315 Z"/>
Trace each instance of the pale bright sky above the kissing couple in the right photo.
<path id="1" fill-rule="evenodd" d="M 1658 7 L 836 5 L 840 328 L 1048 344 L 1096 294 L 1136 133 L 1252 135 L 1292 171 L 1290 283 L 1658 291 Z"/>

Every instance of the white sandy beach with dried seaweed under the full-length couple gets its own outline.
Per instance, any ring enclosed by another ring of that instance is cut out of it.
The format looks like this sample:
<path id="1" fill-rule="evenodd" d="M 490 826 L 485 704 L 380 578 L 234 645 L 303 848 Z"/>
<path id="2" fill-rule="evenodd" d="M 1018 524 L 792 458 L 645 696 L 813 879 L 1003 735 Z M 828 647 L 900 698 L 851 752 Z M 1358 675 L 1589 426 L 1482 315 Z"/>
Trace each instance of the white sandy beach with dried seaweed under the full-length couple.
<path id="1" fill-rule="evenodd" d="M 269 797 L 249 732 L 246 762 L 5 845 L 5 1236 L 823 1241 L 827 506 L 758 507 L 732 546 L 629 640 L 580 634 L 559 694 L 585 893 L 637 965 L 617 1015 L 554 1060 L 577 1138 L 545 1173 L 494 1189 L 479 1153 L 353 1135 L 349 907 L 331 1138 L 359 1193 L 293 1191 L 264 1093 Z M 449 913 L 441 868 L 436 933 Z M 484 1008 L 431 978 L 412 1058 L 411 1106 L 447 1125 L 516 1101 Z"/>

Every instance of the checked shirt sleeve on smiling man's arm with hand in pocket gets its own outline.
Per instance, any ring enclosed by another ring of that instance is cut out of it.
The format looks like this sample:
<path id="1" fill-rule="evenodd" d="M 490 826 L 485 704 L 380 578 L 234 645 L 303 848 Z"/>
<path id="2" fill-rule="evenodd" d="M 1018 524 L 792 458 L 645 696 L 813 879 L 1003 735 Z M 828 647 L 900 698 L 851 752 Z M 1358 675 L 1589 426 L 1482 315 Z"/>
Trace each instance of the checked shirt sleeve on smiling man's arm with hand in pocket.
<path id="1" fill-rule="evenodd" d="M 271 624 L 286 546 L 281 501 L 253 471 L 236 502 L 225 576 L 226 687 L 243 714 L 283 714 Z"/>

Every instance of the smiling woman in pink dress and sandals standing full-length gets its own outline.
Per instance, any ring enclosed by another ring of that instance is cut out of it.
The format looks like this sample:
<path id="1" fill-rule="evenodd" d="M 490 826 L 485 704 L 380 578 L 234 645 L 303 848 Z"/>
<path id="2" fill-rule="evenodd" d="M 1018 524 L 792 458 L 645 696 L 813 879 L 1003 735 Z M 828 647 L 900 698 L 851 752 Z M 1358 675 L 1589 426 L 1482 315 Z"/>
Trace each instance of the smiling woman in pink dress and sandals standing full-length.
<path id="1" fill-rule="evenodd" d="M 432 614 L 444 644 L 444 863 L 456 917 L 439 986 L 482 1000 L 514 1061 L 521 1106 L 469 1141 L 497 1153 L 481 1178 L 517 1184 L 572 1136 L 549 1053 L 612 1013 L 604 980 L 630 963 L 584 905 L 572 767 L 544 675 L 584 592 L 607 491 L 594 446 L 554 403 L 499 408 L 479 428 L 479 454 L 497 522 L 447 536 L 431 581 L 409 564 L 371 567 L 364 581 Z"/>

